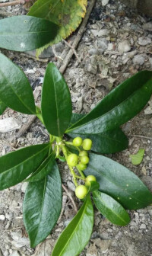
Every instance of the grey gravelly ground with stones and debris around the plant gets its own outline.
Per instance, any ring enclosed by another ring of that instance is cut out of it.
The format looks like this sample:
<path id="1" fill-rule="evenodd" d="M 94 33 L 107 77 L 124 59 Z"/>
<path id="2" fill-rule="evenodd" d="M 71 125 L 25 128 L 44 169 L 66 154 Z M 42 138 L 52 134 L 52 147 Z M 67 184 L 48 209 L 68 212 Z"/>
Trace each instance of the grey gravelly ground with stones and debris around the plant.
<path id="1" fill-rule="evenodd" d="M 125 8 L 121 3 L 109 1 L 104 8 L 101 1 L 93 9 L 87 24 L 84 37 L 78 46 L 77 59 L 71 59 L 65 72 L 65 79 L 71 90 L 74 112 L 87 113 L 112 88 L 125 78 L 139 70 L 152 69 L 152 26 L 150 18 Z M 19 6 L 4 9 L 14 14 L 24 14 Z M 148 30 L 147 30 L 148 29 Z M 58 47 L 58 54 L 64 45 Z M 126 52 L 126 53 L 125 53 Z M 30 56 L 2 50 L 26 72 L 33 89 L 41 87 L 47 62 L 37 62 Z M 56 59 L 52 57 L 52 61 Z M 0 118 L 14 117 L 21 125 L 27 123 L 29 117 L 6 110 Z M 110 158 L 134 171 L 152 190 L 152 100 L 141 114 L 123 126 L 129 138 L 129 148 L 124 152 L 109 155 Z M 10 143 L 17 130 L 0 134 L 1 155 L 10 152 Z M 138 137 L 137 135 L 145 136 Z M 147 137 L 147 138 L 146 138 Z M 38 120 L 30 126 L 30 130 L 18 139 L 18 146 L 29 146 L 45 142 L 49 139 L 46 130 Z M 141 165 L 131 165 L 129 155 L 144 148 L 145 155 Z M 66 166 L 61 165 L 63 183 L 72 191 L 71 177 Z M 49 256 L 56 238 L 74 216 L 71 200 L 64 192 L 65 210 L 62 219 L 55 226 L 51 235 L 38 246 L 30 248 L 27 233 L 24 229 L 22 204 L 27 184 L 18 184 L 0 192 L 0 255 L 45 255 Z M 77 205 L 80 203 L 77 200 Z M 151 256 L 152 255 L 152 207 L 131 211 L 131 223 L 123 228 L 113 226 L 106 219 L 95 214 L 95 226 L 89 245 L 81 256 Z M 58 255 L 56 255 L 58 256 Z M 72 256 L 72 255 L 71 255 Z"/>

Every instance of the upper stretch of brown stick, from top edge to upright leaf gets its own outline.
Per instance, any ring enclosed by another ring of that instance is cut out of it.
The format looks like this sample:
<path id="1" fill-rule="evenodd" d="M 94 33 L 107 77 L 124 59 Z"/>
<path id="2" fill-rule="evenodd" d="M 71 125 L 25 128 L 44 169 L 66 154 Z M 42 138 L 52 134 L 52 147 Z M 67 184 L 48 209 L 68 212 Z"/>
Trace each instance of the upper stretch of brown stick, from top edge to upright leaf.
<path id="1" fill-rule="evenodd" d="M 85 28 L 86 25 L 87 25 L 87 21 L 88 21 L 88 19 L 89 19 L 89 17 L 90 17 L 90 13 L 91 13 L 91 11 L 92 11 L 92 9 L 93 9 L 93 6 L 94 6 L 95 2 L 96 2 L 96 0 L 91 0 L 91 1 L 90 1 L 90 5 L 89 5 L 89 7 L 87 8 L 87 13 L 86 13 L 86 15 L 85 15 L 85 17 L 84 17 L 84 21 L 82 21 L 81 27 L 80 27 L 80 29 L 78 30 L 77 37 L 75 38 L 74 43 L 72 44 L 72 49 L 69 50 L 68 55 L 66 56 L 66 58 L 65 58 L 65 60 L 64 60 L 64 62 L 63 62 L 63 64 L 62 64 L 61 68 L 59 69 L 59 71 L 60 71 L 62 74 L 65 72 L 65 69 L 67 68 L 68 63 L 69 63 L 69 61 L 70 61 L 72 55 L 74 54 L 73 49 L 76 49 L 76 48 L 77 48 L 78 43 L 79 43 L 79 41 L 81 40 L 82 35 L 84 34 L 84 28 Z"/>

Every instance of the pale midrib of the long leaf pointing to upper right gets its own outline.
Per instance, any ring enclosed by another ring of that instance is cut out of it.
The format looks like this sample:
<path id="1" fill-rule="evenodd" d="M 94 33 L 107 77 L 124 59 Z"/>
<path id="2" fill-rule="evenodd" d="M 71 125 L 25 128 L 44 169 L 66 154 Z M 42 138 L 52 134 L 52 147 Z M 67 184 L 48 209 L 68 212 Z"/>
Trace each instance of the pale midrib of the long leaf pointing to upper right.
<path id="1" fill-rule="evenodd" d="M 147 84 L 147 83 L 146 83 Z M 143 86 L 141 86 L 141 88 L 143 88 L 146 84 L 144 84 Z M 80 126 L 76 126 L 74 128 L 72 128 L 71 126 L 71 129 L 70 130 L 67 130 L 66 133 L 70 133 L 70 131 L 72 130 L 78 130 L 78 128 L 80 128 L 81 126 L 86 126 L 88 123 L 91 123 L 91 122 L 94 122 L 96 120 L 100 120 L 100 118 L 103 118 L 104 116 L 106 116 L 107 114 L 109 114 L 111 111 L 113 110 L 116 110 L 118 107 L 120 107 L 122 104 L 125 104 L 126 101 L 128 101 L 130 98 L 132 98 L 134 96 L 134 94 L 136 94 L 138 91 L 141 91 L 141 88 L 139 88 L 137 91 L 134 91 L 128 98 L 125 99 L 125 101 L 122 101 L 120 104 L 118 104 L 116 107 L 113 107 L 111 110 L 109 110 L 108 112 L 106 112 L 105 114 L 103 114 L 102 116 L 100 117 L 97 117 L 97 118 L 94 118 L 93 120 L 90 120 L 90 121 L 87 121 L 87 123 L 84 123 L 84 124 L 81 124 Z M 85 116 L 87 117 L 87 116 Z M 83 118 L 85 118 L 83 117 Z M 82 119 L 83 119 L 82 118 Z M 81 119 L 81 120 L 82 120 Z M 80 122 L 81 120 L 79 120 L 78 122 Z M 78 123 L 77 122 L 77 123 Z M 77 123 L 74 123 L 74 126 L 77 125 Z M 97 133 L 94 133 L 94 134 L 97 134 Z"/>

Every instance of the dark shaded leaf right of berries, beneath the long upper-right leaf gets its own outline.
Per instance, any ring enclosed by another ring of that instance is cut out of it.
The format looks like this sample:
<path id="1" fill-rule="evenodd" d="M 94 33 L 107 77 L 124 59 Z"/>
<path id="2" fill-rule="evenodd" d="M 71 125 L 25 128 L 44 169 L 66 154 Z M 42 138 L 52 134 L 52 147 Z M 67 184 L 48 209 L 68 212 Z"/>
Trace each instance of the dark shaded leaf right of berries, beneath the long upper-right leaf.
<path id="1" fill-rule="evenodd" d="M 72 114 L 71 123 L 77 122 L 82 117 L 84 117 L 83 114 Z M 105 133 L 87 135 L 72 133 L 71 131 L 71 133 L 68 133 L 68 136 L 70 136 L 71 138 L 81 136 L 82 139 L 91 139 L 93 142 L 91 150 L 102 154 L 121 152 L 122 150 L 128 148 L 128 138 L 125 136 L 120 128 L 116 128 L 115 130 L 109 130 Z"/>

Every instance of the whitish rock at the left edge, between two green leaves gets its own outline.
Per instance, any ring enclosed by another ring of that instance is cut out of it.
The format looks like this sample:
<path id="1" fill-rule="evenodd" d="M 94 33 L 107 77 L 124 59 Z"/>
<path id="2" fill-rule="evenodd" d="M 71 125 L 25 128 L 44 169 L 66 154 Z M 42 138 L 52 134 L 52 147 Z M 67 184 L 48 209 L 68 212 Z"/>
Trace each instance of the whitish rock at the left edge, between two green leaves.
<path id="1" fill-rule="evenodd" d="M 0 120 L 0 133 L 8 133 L 12 130 L 20 129 L 21 124 L 14 117 L 8 117 Z"/>

